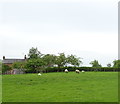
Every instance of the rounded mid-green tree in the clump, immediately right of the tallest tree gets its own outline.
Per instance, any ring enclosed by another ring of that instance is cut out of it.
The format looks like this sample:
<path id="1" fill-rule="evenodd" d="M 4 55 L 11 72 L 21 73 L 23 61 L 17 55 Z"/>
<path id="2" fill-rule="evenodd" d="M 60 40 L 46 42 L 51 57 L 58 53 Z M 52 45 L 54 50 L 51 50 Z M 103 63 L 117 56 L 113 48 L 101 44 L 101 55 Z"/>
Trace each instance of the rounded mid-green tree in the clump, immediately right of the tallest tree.
<path id="1" fill-rule="evenodd" d="M 43 61 L 45 62 L 46 67 L 53 67 L 56 62 L 56 56 L 52 54 L 46 54 L 42 57 Z"/>

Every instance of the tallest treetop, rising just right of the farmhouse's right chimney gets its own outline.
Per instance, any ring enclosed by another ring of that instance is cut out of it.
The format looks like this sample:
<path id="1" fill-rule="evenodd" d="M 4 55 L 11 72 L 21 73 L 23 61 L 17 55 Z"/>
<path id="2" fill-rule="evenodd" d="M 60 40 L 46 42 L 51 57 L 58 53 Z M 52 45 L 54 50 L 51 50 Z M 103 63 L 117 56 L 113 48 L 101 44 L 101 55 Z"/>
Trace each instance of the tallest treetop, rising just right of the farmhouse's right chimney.
<path id="1" fill-rule="evenodd" d="M 32 47 L 29 50 L 29 54 L 28 54 L 29 59 L 37 59 L 41 56 L 42 56 L 42 54 L 40 53 L 40 51 L 38 51 L 37 48 Z"/>

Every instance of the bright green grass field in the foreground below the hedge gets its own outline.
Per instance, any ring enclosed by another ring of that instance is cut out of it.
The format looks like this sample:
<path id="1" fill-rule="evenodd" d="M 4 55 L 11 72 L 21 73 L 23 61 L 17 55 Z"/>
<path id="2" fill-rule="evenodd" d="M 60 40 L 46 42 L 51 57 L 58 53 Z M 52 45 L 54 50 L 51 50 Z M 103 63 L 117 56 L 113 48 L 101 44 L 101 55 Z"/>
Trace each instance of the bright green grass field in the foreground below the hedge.
<path id="1" fill-rule="evenodd" d="M 3 75 L 3 102 L 117 102 L 117 72 Z"/>

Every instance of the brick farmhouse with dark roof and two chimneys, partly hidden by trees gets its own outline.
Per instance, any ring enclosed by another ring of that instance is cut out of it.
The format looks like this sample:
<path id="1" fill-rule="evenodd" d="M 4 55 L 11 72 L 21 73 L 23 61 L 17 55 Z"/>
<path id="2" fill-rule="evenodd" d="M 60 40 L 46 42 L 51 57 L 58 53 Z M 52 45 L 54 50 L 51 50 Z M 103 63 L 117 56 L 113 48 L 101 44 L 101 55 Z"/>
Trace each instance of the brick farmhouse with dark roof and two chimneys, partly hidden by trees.
<path id="1" fill-rule="evenodd" d="M 9 59 L 9 58 L 5 58 L 5 56 L 3 56 L 3 60 L 2 60 L 2 64 L 8 65 L 10 67 L 12 67 L 14 62 L 24 62 L 26 61 L 26 55 L 24 56 L 24 59 Z M 6 74 L 23 74 L 23 70 L 22 69 L 12 69 L 10 71 L 7 71 Z"/>

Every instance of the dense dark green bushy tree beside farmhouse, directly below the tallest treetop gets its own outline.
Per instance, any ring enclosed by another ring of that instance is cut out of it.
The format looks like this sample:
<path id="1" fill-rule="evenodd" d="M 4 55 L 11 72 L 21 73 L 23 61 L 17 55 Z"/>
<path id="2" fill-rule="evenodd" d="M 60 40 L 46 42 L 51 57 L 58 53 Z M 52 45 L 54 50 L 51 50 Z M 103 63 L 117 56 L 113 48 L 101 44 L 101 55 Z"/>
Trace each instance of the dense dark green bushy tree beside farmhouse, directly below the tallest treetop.
<path id="1" fill-rule="evenodd" d="M 41 72 L 45 66 L 44 61 L 41 58 L 29 59 L 26 63 L 26 69 L 32 72 Z"/>

